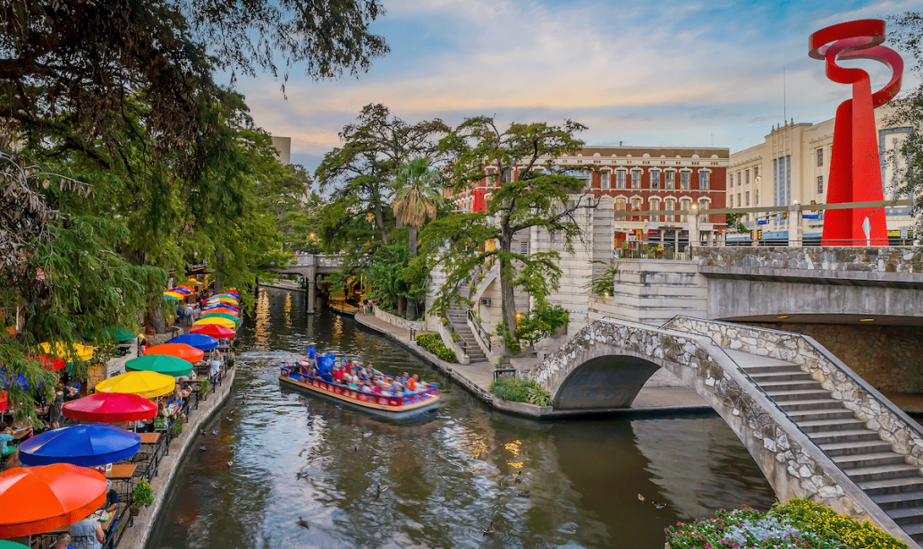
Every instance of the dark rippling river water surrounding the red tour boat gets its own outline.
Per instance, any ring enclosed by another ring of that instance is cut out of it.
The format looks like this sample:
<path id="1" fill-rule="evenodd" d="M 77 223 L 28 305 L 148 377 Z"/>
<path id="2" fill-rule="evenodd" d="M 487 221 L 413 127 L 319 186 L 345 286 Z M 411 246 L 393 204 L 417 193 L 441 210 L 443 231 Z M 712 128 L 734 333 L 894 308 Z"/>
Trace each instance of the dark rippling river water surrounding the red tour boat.
<path id="1" fill-rule="evenodd" d="M 306 315 L 304 300 L 260 290 L 241 333 L 234 393 L 199 437 L 207 449 L 197 441 L 177 472 L 148 549 L 659 549 L 677 520 L 773 504 L 716 415 L 512 417 L 351 318 L 320 308 Z M 424 421 L 393 425 L 280 388 L 279 364 L 309 340 L 388 373 L 418 372 L 442 385 L 442 405 Z M 515 471 L 522 483 L 511 481 Z M 379 484 L 387 489 L 377 496 Z M 654 500 L 667 507 L 655 510 Z M 485 537 L 491 521 L 497 533 Z"/>

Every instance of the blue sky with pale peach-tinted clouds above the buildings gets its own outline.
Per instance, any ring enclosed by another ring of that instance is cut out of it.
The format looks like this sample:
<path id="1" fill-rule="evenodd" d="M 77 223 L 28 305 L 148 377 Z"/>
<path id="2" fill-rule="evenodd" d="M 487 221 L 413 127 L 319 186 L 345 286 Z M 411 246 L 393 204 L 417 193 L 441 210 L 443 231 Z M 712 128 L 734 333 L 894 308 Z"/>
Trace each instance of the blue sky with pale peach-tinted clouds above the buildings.
<path id="1" fill-rule="evenodd" d="M 923 0 L 383 2 L 371 30 L 391 52 L 359 78 L 315 82 L 295 67 L 287 98 L 270 75 L 237 81 L 257 125 L 292 137 L 292 161 L 311 172 L 373 102 L 409 123 L 569 118 L 588 126 L 588 145 L 747 149 L 785 117 L 818 123 L 849 98 L 808 57 L 811 32 L 923 11 Z M 873 90 L 890 77 L 854 66 Z M 918 85 L 909 76 L 905 89 Z"/>

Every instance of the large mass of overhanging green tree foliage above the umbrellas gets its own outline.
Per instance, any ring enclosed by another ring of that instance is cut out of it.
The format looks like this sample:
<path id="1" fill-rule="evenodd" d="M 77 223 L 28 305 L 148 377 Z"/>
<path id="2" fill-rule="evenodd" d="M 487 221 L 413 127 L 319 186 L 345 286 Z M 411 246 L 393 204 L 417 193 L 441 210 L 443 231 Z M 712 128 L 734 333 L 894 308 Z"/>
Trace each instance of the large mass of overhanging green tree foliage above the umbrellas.
<path id="1" fill-rule="evenodd" d="M 41 342 L 161 331 L 172 273 L 204 263 L 246 287 L 290 257 L 277 217 L 309 179 L 278 161 L 235 75 L 357 75 L 388 51 L 368 31 L 382 11 L 377 0 L 0 6 L 0 364 L 17 416 L 35 419 L 39 392 L 53 398 Z"/>

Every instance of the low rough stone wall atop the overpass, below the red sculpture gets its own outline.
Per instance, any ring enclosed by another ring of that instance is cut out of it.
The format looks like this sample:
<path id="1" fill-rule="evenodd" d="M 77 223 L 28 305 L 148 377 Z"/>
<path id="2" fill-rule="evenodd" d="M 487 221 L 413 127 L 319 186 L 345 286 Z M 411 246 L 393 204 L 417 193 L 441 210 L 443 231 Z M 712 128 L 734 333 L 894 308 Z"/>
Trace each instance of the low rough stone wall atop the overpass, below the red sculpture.
<path id="1" fill-rule="evenodd" d="M 694 248 L 693 257 L 708 267 L 923 272 L 920 246 L 703 246 Z"/>

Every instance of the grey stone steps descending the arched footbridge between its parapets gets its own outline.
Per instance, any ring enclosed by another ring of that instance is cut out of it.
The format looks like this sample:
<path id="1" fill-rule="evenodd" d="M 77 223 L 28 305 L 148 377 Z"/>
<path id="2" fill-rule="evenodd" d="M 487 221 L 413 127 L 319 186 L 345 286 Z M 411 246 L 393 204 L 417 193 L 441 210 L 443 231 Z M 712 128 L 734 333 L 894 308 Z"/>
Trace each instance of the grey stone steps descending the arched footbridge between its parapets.
<path id="1" fill-rule="evenodd" d="M 725 350 L 859 488 L 923 541 L 923 475 L 797 364 Z"/>

